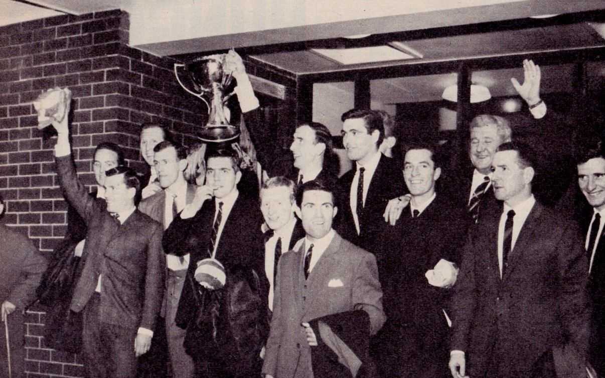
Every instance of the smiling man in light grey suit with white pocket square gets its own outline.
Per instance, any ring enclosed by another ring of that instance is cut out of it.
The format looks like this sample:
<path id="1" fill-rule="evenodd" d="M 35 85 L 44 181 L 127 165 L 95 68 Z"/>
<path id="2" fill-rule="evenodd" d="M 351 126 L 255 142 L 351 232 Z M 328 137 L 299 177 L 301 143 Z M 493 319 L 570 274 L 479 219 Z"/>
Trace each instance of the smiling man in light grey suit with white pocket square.
<path id="1" fill-rule="evenodd" d="M 278 265 L 263 365 L 267 377 L 313 377 L 312 347 L 321 337 L 309 326 L 313 319 L 363 310 L 368 337 L 385 321 L 376 258 L 332 229 L 338 211 L 333 191 L 306 182 L 296 202 L 306 237 Z"/>

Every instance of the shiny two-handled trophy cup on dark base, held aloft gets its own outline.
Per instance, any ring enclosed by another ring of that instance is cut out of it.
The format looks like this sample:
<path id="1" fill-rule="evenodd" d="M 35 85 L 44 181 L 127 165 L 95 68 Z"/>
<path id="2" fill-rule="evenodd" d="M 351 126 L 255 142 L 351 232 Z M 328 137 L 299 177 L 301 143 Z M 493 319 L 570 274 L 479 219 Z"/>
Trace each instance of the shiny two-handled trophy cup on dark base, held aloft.
<path id="1" fill-rule="evenodd" d="M 231 73 L 223 70 L 225 58 L 225 54 L 210 55 L 174 64 L 178 84 L 208 105 L 208 123 L 197 131 L 204 142 L 226 142 L 240 135 L 239 128 L 229 124 L 226 114 L 229 110 L 225 105 L 235 85 Z"/>

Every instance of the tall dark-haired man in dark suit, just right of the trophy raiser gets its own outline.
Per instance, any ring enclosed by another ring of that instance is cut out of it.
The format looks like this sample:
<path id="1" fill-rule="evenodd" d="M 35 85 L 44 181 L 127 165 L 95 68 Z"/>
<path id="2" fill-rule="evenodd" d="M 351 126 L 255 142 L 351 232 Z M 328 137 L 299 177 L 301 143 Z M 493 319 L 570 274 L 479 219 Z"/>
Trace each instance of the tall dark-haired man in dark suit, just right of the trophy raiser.
<path id="1" fill-rule="evenodd" d="M 338 181 L 342 207 L 336 229 L 345 239 L 374 253 L 387 202 L 405 188 L 399 167 L 379 151 L 384 139 L 381 114 L 352 109 L 341 119 L 342 144 L 356 167 Z"/>

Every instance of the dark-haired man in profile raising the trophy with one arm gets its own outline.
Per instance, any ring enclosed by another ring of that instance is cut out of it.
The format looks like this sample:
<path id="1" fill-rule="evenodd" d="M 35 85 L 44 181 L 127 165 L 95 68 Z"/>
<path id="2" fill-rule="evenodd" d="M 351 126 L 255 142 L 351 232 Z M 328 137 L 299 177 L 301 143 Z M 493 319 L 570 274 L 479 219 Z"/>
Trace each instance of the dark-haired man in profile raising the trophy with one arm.
<path id="1" fill-rule="evenodd" d="M 300 124 L 294 131 L 290 151 L 286 151 L 285 146 L 278 144 L 275 136 L 269 134 L 270 128 L 261 122 L 260 105 L 246 74 L 246 67 L 233 50 L 227 55 L 227 70 L 231 70 L 237 80 L 235 93 L 258 161 L 269 177 L 285 176 L 296 185 L 311 180 L 336 182 L 339 163 L 333 151 L 330 130 L 319 122 Z"/>

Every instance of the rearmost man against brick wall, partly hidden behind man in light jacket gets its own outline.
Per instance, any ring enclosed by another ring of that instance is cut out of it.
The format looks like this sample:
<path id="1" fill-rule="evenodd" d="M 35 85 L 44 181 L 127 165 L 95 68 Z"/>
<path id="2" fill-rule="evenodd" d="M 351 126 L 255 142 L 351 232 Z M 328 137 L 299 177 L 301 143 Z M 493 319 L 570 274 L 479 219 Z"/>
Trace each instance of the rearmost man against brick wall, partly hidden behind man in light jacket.
<path id="1" fill-rule="evenodd" d="M 162 141 L 171 141 L 168 129 L 162 124 L 148 122 L 141 125 L 140 150 L 143 159 L 149 164 L 149 174 L 145 174 L 142 179 L 143 192 L 142 197 L 147 198 L 162 190 L 157 181 L 157 173 L 154 170 L 154 148 Z"/>

